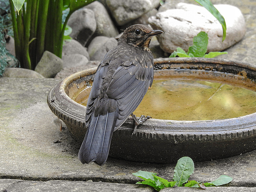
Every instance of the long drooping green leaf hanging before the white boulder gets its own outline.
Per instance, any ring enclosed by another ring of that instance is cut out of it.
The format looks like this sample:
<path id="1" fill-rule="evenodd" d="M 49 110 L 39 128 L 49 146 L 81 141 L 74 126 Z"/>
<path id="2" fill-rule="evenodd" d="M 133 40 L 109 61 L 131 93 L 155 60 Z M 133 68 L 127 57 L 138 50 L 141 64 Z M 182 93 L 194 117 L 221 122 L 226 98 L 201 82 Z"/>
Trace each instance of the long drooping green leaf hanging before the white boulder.
<path id="1" fill-rule="evenodd" d="M 223 30 L 222 41 L 224 41 L 226 38 L 226 29 L 227 29 L 224 17 L 213 6 L 210 0 L 195 0 L 195 1 L 198 2 L 200 5 L 202 5 L 204 8 L 206 8 L 220 22 Z"/>

